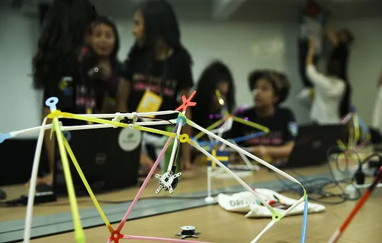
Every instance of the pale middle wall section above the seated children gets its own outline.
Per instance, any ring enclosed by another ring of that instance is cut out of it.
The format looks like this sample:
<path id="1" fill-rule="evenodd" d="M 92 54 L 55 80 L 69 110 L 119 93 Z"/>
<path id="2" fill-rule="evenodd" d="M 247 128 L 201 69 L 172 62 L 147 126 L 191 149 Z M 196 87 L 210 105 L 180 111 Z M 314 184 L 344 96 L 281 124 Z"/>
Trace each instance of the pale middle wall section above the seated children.
<path id="1" fill-rule="evenodd" d="M 116 19 L 122 38 L 120 58 L 126 58 L 133 44 L 131 19 Z M 247 76 L 254 69 L 273 68 L 285 72 L 292 90 L 285 106 L 294 110 L 299 122 L 308 121 L 308 107 L 296 96 L 301 90 L 298 74 L 297 36 L 294 22 L 199 22 L 181 19 L 182 40 L 194 60 L 195 83 L 209 62 L 220 59 L 235 78 L 238 105 L 253 103 Z"/>

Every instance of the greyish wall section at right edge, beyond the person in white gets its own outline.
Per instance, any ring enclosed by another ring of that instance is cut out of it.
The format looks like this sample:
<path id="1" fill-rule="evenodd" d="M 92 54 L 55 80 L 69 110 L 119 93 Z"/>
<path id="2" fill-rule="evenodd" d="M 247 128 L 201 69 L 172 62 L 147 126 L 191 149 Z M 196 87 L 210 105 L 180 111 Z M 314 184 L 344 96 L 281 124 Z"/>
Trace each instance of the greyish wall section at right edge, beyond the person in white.
<path id="1" fill-rule="evenodd" d="M 366 124 L 372 123 L 376 84 L 382 68 L 381 17 L 333 22 L 335 28 L 348 28 L 355 36 L 349 59 L 352 101 Z"/>

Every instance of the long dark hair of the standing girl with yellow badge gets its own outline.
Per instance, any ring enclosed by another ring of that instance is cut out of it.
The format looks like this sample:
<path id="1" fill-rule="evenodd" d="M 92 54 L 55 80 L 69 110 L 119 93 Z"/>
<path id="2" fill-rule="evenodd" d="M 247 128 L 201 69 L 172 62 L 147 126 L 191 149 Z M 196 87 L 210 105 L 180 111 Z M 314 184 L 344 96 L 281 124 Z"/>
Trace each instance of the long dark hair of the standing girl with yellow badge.
<path id="1" fill-rule="evenodd" d="M 131 48 L 128 59 L 145 54 L 149 62 L 155 55 L 155 44 L 162 38 L 174 53 L 192 62 L 190 53 L 181 44 L 181 31 L 171 4 L 165 0 L 144 1 L 136 10 L 142 12 L 144 19 L 144 44 L 142 47 L 135 43 Z"/>

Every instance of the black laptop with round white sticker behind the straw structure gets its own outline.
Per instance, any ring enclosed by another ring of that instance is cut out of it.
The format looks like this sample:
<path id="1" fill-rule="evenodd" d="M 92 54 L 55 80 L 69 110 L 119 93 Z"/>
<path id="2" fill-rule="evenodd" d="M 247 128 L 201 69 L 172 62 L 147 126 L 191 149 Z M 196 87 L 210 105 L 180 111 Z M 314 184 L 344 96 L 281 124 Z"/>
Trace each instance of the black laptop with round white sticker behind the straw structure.
<path id="1" fill-rule="evenodd" d="M 106 192 L 138 183 L 142 133 L 131 128 L 97 128 L 64 132 L 93 192 Z M 58 149 L 57 149 L 58 151 Z M 67 194 L 60 153 L 56 152 L 53 192 Z M 88 192 L 68 154 L 74 190 Z"/>

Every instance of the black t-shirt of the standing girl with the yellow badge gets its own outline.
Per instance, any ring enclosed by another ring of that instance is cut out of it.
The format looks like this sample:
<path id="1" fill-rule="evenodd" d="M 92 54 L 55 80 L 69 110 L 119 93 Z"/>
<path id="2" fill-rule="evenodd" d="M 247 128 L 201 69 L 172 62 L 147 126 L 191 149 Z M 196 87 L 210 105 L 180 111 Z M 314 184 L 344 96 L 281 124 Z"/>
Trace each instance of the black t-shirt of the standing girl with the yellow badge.
<path id="1" fill-rule="evenodd" d="M 188 90 L 193 86 L 190 60 L 176 52 L 166 60 L 153 61 L 151 65 L 148 63 L 147 55 L 138 54 L 126 62 L 124 78 L 131 83 L 128 112 L 137 110 L 147 89 L 162 97 L 160 111 L 175 110 L 180 103 L 178 95 L 181 90 Z M 176 115 L 163 115 L 157 118 L 174 119 Z M 163 129 L 158 126 L 156 128 Z"/>

